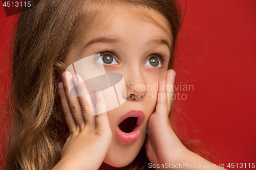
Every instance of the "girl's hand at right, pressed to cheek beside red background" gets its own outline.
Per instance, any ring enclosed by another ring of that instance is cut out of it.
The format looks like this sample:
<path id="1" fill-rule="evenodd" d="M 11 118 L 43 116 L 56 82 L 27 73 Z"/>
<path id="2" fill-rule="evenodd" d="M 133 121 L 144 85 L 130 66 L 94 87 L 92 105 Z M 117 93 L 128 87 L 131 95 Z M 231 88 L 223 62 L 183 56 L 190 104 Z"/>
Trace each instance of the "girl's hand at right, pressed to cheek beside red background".
<path id="1" fill-rule="evenodd" d="M 145 149 L 147 158 L 153 164 L 176 164 L 187 151 L 174 133 L 168 118 L 173 103 L 175 74 L 173 69 L 169 69 L 166 81 L 159 82 L 156 110 L 147 124 Z"/>

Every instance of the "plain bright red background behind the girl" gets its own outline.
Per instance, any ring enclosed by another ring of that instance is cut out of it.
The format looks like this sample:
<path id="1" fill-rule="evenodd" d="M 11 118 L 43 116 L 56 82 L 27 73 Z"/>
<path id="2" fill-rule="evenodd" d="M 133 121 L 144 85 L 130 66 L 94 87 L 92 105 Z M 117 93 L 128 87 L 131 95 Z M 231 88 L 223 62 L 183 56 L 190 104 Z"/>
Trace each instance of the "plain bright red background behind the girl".
<path id="1" fill-rule="evenodd" d="M 6 17 L 0 4 L 2 57 L 14 17 Z M 188 0 L 180 32 L 177 84 L 194 91 L 183 91 L 187 100 L 176 101 L 177 107 L 187 132 L 214 149 L 214 163 L 225 168 L 256 163 L 255 9 L 254 0 Z"/>

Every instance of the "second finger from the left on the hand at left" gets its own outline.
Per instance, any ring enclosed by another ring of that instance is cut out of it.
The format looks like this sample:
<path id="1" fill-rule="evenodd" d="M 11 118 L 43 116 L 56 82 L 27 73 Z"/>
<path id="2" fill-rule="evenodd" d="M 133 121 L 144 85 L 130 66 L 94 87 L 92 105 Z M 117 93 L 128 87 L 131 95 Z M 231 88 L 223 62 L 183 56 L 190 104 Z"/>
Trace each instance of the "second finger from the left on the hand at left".
<path id="1" fill-rule="evenodd" d="M 77 94 L 75 91 L 72 91 L 72 95 L 70 94 L 70 90 L 68 88 L 68 83 L 69 85 L 71 85 L 72 87 L 74 87 L 73 81 L 72 81 L 72 75 L 70 72 L 66 71 L 62 74 L 62 79 L 63 79 L 63 88 L 65 90 L 66 93 L 66 98 L 69 104 L 69 109 L 70 112 L 74 118 L 74 121 L 76 123 L 76 126 L 78 128 L 83 128 L 84 127 L 84 121 L 83 121 L 83 117 L 82 117 L 82 113 L 81 113 L 81 108 L 80 108 L 80 104 L 79 101 L 77 99 Z M 75 95 L 75 96 L 74 96 Z"/>

